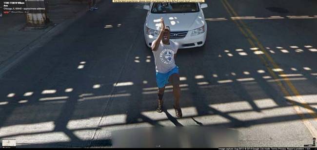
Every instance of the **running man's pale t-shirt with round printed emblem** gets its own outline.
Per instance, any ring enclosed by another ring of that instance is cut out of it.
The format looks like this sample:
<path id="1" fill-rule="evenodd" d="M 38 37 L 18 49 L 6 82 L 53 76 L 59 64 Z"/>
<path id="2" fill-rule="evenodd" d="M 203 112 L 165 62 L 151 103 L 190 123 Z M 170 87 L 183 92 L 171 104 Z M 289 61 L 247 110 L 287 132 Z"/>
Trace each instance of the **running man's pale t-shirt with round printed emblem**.
<path id="1" fill-rule="evenodd" d="M 163 44 L 162 41 L 159 43 L 158 49 L 152 51 L 155 59 L 156 72 L 166 74 L 176 67 L 174 55 L 177 53 L 177 50 L 177 42 L 170 40 L 169 45 Z"/>

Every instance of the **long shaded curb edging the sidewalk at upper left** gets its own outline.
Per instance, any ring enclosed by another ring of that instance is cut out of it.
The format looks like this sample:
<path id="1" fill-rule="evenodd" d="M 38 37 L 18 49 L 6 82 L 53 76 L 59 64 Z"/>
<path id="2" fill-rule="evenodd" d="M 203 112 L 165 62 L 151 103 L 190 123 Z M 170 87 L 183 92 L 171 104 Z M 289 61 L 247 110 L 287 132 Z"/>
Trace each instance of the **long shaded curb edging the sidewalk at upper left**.
<path id="1" fill-rule="evenodd" d="M 97 2 L 100 3 L 101 0 L 97 0 Z M 21 48 L 19 52 L 17 52 L 13 56 L 10 56 L 7 60 L 3 61 L 0 64 L 0 78 L 2 78 L 3 75 L 8 70 L 10 70 L 12 67 L 17 65 L 18 63 L 20 63 L 27 56 L 30 56 L 32 53 L 37 51 L 41 46 L 43 46 L 45 43 L 50 41 L 53 37 L 57 36 L 59 33 L 65 30 L 69 25 L 71 25 L 76 20 L 81 18 L 87 12 L 88 12 L 87 9 L 83 9 L 74 18 L 65 20 L 64 22 L 61 22 L 60 24 L 51 27 L 48 31 L 40 35 L 38 38 L 34 39 L 25 47 Z"/>

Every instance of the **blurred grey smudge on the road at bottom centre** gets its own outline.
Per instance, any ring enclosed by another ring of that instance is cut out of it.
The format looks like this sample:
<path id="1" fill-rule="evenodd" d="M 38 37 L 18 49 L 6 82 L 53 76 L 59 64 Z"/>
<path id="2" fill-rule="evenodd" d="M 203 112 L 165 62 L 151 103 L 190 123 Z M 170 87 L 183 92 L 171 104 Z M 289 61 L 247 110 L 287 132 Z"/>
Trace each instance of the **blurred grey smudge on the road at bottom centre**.
<path id="1" fill-rule="evenodd" d="M 144 127 L 112 132 L 113 148 L 237 147 L 238 131 L 212 127 Z"/>

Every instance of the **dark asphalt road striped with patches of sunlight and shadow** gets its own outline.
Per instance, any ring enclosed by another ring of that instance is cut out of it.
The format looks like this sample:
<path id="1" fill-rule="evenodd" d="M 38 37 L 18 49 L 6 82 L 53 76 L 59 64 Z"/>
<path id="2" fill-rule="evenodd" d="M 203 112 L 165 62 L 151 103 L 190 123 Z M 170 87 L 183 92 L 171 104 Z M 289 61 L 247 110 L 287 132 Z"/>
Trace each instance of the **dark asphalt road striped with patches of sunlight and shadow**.
<path id="1" fill-rule="evenodd" d="M 1 76 L 0 139 L 18 147 L 111 147 L 115 130 L 206 126 L 237 130 L 241 147 L 312 144 L 317 1 L 207 3 L 205 46 L 176 58 L 183 118 L 174 118 L 171 88 L 167 112 L 155 112 L 143 4 L 104 0 Z"/>

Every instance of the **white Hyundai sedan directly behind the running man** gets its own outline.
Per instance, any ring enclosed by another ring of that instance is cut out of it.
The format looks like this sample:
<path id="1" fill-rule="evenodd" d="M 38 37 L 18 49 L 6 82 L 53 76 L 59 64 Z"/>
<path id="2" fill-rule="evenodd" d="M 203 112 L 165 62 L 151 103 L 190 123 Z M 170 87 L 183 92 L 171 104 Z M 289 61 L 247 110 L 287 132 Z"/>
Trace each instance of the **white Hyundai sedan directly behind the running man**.
<path id="1" fill-rule="evenodd" d="M 144 5 L 148 10 L 144 23 L 145 43 L 151 47 L 158 37 L 160 18 L 171 29 L 170 39 L 179 43 L 179 48 L 200 47 L 205 44 L 207 24 L 202 11 L 206 3 L 198 2 L 152 2 Z"/>

